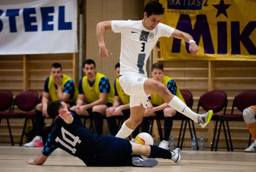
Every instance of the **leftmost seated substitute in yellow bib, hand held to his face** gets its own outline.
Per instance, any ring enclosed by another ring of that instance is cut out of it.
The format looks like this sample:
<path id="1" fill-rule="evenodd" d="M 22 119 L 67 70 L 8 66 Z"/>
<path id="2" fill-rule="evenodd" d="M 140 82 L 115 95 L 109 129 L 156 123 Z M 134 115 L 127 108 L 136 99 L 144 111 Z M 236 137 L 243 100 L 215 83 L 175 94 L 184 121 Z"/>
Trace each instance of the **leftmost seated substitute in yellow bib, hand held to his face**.
<path id="1" fill-rule="evenodd" d="M 68 108 L 75 105 L 78 97 L 78 90 L 73 80 L 63 74 L 62 65 L 53 63 L 51 66 L 51 74 L 44 82 L 42 95 L 42 103 L 35 107 L 35 138 L 29 143 L 24 144 L 26 147 L 42 147 L 43 146 L 43 126 L 44 118 L 49 117 L 47 114 L 47 104 L 50 100 L 63 100 Z M 51 128 L 51 127 L 50 127 Z M 50 129 L 49 128 L 49 129 Z M 47 134 L 48 135 L 48 134 Z M 47 139 L 46 135 L 46 139 Z M 44 138 L 45 139 L 45 138 Z"/>

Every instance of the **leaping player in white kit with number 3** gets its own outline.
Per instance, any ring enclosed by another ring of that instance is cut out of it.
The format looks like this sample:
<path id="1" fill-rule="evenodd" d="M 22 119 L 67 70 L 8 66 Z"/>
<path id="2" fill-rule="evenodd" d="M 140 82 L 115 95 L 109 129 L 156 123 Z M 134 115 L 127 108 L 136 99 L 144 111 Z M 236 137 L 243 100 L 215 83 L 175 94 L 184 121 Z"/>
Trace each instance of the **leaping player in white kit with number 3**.
<path id="1" fill-rule="evenodd" d="M 141 123 L 147 107 L 148 96 L 160 95 L 165 102 L 176 111 L 190 117 L 204 128 L 211 120 L 212 111 L 196 114 L 166 86 L 147 77 L 147 59 L 161 36 L 183 39 L 190 43 L 189 50 L 195 55 L 199 48 L 193 37 L 183 31 L 160 23 L 164 13 L 162 4 L 150 1 L 144 8 L 144 18 L 139 21 L 105 21 L 96 26 L 99 45 L 99 58 L 108 58 L 110 52 L 104 41 L 106 29 L 121 33 L 120 84 L 126 94 L 130 95 L 130 117 L 124 122 L 116 137 L 127 138 Z"/>

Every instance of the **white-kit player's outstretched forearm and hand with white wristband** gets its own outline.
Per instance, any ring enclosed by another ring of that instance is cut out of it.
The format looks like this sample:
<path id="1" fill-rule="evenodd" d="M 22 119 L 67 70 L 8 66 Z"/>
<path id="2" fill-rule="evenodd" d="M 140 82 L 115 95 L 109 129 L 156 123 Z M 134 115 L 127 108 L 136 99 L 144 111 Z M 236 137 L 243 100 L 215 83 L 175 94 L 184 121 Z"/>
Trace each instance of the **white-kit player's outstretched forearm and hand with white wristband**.
<path id="1" fill-rule="evenodd" d="M 199 51 L 199 47 L 196 45 L 195 41 L 193 40 L 193 37 L 189 33 L 185 33 L 183 31 L 175 29 L 172 33 L 172 36 L 178 39 L 183 39 L 186 42 L 190 43 L 189 50 L 192 56 L 194 56 Z"/>

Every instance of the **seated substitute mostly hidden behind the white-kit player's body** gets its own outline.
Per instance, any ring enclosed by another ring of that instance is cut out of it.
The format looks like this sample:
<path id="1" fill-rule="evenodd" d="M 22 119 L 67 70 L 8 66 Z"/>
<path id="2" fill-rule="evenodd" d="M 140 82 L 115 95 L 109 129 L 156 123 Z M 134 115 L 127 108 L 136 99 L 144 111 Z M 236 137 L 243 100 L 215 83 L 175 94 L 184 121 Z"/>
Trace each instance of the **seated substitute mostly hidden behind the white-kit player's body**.
<path id="1" fill-rule="evenodd" d="M 114 83 L 115 100 L 114 100 L 113 106 L 106 109 L 106 119 L 107 119 L 110 134 L 112 136 L 115 136 L 118 132 L 116 116 L 125 115 L 125 117 L 128 118 L 130 115 L 130 107 L 129 107 L 130 96 L 127 95 L 123 91 L 122 87 L 120 86 L 119 73 L 120 73 L 120 63 L 118 62 L 115 65 L 115 74 L 117 77 Z M 138 134 L 139 134 L 139 126 L 132 132 L 131 141 L 134 141 L 135 137 Z"/>

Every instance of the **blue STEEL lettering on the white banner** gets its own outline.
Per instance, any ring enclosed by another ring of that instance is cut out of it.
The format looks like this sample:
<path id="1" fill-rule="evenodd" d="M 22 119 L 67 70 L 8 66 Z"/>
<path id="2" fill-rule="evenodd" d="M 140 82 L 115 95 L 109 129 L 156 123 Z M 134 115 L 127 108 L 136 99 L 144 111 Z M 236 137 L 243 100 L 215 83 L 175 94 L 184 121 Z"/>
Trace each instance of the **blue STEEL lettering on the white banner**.
<path id="1" fill-rule="evenodd" d="M 49 24 L 49 22 L 54 21 L 54 7 L 40 7 L 40 12 L 42 16 L 42 31 L 47 30 L 54 30 L 54 25 Z M 2 16 L 3 10 L 0 9 L 0 31 L 3 29 L 3 22 Z M 17 32 L 17 26 L 16 26 L 16 16 L 19 16 L 20 9 L 7 9 L 5 17 L 8 17 L 9 19 L 9 27 L 10 32 Z M 23 15 L 23 22 L 24 22 L 24 28 L 25 31 L 37 31 L 38 26 L 36 25 L 37 19 L 34 16 L 36 14 L 35 8 L 24 8 L 22 15 Z M 65 22 L 65 6 L 59 6 L 59 15 L 58 15 L 58 30 L 71 30 L 72 29 L 72 23 L 71 22 Z"/>

